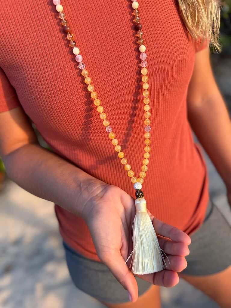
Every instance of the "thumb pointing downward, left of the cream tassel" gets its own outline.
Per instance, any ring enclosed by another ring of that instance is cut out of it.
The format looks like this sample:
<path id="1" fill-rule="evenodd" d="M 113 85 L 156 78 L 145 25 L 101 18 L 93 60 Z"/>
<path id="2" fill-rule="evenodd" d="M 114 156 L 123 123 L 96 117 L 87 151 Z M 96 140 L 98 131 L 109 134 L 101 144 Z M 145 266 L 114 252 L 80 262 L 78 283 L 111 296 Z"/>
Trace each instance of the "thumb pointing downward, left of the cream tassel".
<path id="1" fill-rule="evenodd" d="M 124 258 L 119 252 L 107 253 L 101 257 L 101 261 L 107 265 L 111 273 L 120 282 L 125 290 L 131 295 L 131 301 L 135 302 L 138 298 L 138 286 L 136 279 L 129 270 L 128 265 L 124 264 Z"/>

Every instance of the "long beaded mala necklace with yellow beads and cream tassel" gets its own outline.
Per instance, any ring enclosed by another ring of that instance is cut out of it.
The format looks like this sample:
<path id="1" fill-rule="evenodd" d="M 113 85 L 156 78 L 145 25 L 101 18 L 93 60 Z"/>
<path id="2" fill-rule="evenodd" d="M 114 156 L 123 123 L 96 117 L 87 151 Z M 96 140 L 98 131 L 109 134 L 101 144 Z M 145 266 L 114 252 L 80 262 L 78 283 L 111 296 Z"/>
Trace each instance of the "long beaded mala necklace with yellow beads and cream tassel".
<path id="1" fill-rule="evenodd" d="M 144 193 L 142 192 L 142 184 L 144 183 L 144 177 L 146 176 L 148 170 L 148 158 L 150 157 L 150 144 L 151 140 L 149 139 L 150 134 L 150 123 L 149 119 L 151 113 L 149 112 L 150 99 L 148 91 L 148 69 L 146 68 L 148 63 L 146 61 L 147 54 L 144 52 L 146 47 L 143 45 L 143 31 L 142 25 L 140 23 L 140 16 L 137 1 L 132 0 L 132 8 L 134 14 L 134 22 L 136 23 L 135 29 L 137 31 L 138 41 L 140 45 L 140 63 L 141 75 L 143 83 L 143 96 L 144 96 L 144 159 L 143 166 L 141 167 L 141 172 L 139 177 L 134 176 L 134 171 L 131 170 L 131 166 L 128 164 L 128 160 L 124 158 L 124 152 L 121 151 L 121 146 L 118 144 L 119 141 L 115 138 L 115 133 L 112 132 L 109 120 L 107 120 L 107 115 L 101 105 L 100 100 L 97 98 L 97 93 L 95 92 L 95 87 L 91 84 L 91 78 L 88 76 L 88 71 L 85 69 L 85 64 L 82 62 L 83 57 L 79 54 L 79 48 L 76 47 L 76 42 L 73 40 L 74 35 L 72 34 L 71 28 L 68 26 L 67 20 L 65 19 L 65 14 L 63 12 L 63 6 L 60 4 L 60 0 L 53 0 L 53 4 L 56 6 L 56 11 L 59 13 L 59 18 L 61 19 L 61 24 L 63 26 L 64 32 L 67 34 L 67 40 L 69 41 L 69 46 L 73 48 L 73 54 L 75 55 L 75 60 L 79 63 L 79 69 L 81 70 L 81 75 L 84 78 L 84 82 L 87 84 L 87 90 L 91 92 L 91 98 L 94 99 L 94 104 L 97 106 L 97 111 L 99 112 L 100 118 L 103 120 L 103 125 L 106 127 L 106 132 L 109 133 L 108 137 L 111 139 L 111 143 L 115 146 L 115 151 L 118 152 L 118 157 L 121 158 L 121 163 L 124 165 L 124 169 L 127 171 L 128 176 L 131 178 L 132 183 L 134 183 L 134 189 L 136 191 L 136 215 L 132 224 L 132 241 L 133 241 L 133 250 L 128 259 L 132 256 L 132 273 L 134 274 L 150 274 L 155 273 L 164 269 L 163 261 L 164 257 L 159 246 L 159 242 L 156 236 L 156 232 L 153 228 L 151 219 L 147 213 L 146 200 L 144 199 Z M 128 261 L 127 259 L 127 261 Z M 127 262 L 126 261 L 126 262 Z M 125 264 L 126 264 L 125 262 Z M 164 261 L 165 263 L 165 261 Z M 166 264 L 166 263 L 165 263 Z M 131 267 L 130 265 L 130 267 Z"/>

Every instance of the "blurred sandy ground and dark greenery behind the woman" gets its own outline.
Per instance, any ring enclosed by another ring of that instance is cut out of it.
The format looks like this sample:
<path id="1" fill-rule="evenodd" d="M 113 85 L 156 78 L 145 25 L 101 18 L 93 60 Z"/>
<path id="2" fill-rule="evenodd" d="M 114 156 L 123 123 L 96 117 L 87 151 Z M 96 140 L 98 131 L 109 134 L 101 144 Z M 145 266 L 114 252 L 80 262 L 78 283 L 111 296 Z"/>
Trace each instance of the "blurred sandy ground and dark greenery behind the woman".
<path id="1" fill-rule="evenodd" d="M 220 34 L 222 52 L 213 53 L 211 61 L 231 115 L 231 0 L 226 0 L 221 10 Z M 205 153 L 204 157 L 210 196 L 231 225 L 225 186 Z M 184 281 L 171 289 L 162 288 L 161 298 L 163 308 L 218 307 Z M 0 307 L 105 307 L 72 284 L 53 205 L 8 179 L 1 160 Z"/>

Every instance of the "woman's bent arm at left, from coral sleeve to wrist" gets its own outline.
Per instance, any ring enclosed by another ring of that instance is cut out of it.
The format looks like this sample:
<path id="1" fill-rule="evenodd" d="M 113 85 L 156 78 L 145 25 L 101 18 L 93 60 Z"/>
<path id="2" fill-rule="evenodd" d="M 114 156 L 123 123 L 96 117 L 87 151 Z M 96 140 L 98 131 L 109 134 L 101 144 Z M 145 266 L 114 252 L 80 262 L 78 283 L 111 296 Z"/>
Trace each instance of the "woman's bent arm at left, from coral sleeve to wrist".
<path id="1" fill-rule="evenodd" d="M 0 156 L 8 176 L 19 186 L 80 217 L 89 198 L 106 186 L 39 146 L 21 107 L 0 113 Z"/>

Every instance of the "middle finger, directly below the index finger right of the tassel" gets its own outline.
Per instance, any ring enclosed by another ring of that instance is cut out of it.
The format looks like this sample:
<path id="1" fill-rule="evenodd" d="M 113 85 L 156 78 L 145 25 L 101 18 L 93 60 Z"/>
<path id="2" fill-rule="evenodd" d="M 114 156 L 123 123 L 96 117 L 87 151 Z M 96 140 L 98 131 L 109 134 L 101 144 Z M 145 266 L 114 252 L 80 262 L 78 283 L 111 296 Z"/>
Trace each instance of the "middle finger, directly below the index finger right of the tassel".
<path id="1" fill-rule="evenodd" d="M 173 256 L 188 256 L 189 249 L 188 245 L 182 242 L 174 242 L 165 237 L 158 236 L 158 241 L 160 248 L 164 250 L 165 253 L 171 254 Z"/>

